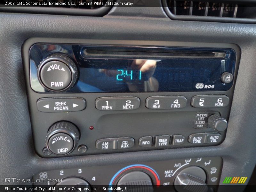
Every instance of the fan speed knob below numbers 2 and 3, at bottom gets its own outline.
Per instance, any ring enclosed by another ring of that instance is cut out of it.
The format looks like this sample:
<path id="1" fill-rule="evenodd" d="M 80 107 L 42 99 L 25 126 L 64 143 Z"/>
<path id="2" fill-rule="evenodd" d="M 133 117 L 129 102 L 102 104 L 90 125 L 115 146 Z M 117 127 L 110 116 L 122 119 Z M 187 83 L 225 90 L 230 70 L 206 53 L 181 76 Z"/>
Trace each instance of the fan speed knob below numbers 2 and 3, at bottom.
<path id="1" fill-rule="evenodd" d="M 62 179 L 60 183 L 55 184 L 54 187 L 57 188 L 57 190 L 53 190 L 53 192 L 60 191 L 61 186 L 66 186 L 66 189 L 64 188 L 64 192 L 87 192 L 91 191 L 90 184 L 79 177 L 68 177 L 65 179 Z M 82 189 L 82 190 L 81 190 Z M 63 191 L 63 190 L 61 190 Z"/>

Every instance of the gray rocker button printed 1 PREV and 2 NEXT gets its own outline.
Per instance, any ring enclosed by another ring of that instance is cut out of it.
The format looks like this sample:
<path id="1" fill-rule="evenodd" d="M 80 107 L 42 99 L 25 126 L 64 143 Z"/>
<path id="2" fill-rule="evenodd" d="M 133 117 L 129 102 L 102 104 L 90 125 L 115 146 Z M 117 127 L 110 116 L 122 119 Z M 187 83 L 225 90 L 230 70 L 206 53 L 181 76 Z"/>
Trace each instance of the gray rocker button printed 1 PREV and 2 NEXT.
<path id="1" fill-rule="evenodd" d="M 133 110 L 140 107 L 138 97 L 100 97 L 95 100 L 95 107 L 101 111 Z"/>

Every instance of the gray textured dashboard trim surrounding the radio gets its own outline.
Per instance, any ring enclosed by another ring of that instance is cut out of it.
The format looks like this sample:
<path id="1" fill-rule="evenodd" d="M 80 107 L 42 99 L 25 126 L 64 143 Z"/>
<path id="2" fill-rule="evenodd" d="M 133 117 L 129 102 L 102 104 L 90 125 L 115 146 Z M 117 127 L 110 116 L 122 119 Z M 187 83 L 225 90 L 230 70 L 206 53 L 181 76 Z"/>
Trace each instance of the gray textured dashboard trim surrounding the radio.
<path id="1" fill-rule="evenodd" d="M 160 10 L 159 7 L 156 9 Z M 116 10 L 118 9 L 114 8 L 113 12 Z M 0 183 L 2 185 L 12 184 L 4 182 L 6 177 L 31 178 L 33 174 L 45 170 L 145 162 L 145 156 L 147 161 L 221 156 L 223 158 L 221 181 L 231 175 L 250 177 L 256 162 L 255 25 L 171 21 L 164 18 L 163 12 L 156 16 L 157 19 L 151 19 L 148 16 L 143 17 L 148 12 L 148 8 L 141 10 L 143 10 L 140 13 L 141 17 L 132 19 L 120 18 L 121 12 L 118 14 L 112 12 L 110 13 L 112 16 L 107 15 L 103 18 L 0 14 L 0 159 L 2 163 Z M 129 12 L 128 8 L 126 12 Z M 135 16 L 134 12 L 132 14 Z M 188 46 L 188 42 L 196 42 L 201 47 L 204 43 L 212 46 L 217 42 L 237 44 L 241 49 L 241 61 L 225 141 L 214 147 L 52 159 L 37 156 L 33 148 L 21 59 L 22 44 L 31 37 L 51 38 L 52 42 L 55 38 L 62 38 L 63 43 L 79 43 L 81 39 L 90 39 L 94 43 L 119 40 L 118 44 L 122 44 L 129 40 L 131 44 L 145 45 L 183 42 L 179 43 L 180 46 Z"/>

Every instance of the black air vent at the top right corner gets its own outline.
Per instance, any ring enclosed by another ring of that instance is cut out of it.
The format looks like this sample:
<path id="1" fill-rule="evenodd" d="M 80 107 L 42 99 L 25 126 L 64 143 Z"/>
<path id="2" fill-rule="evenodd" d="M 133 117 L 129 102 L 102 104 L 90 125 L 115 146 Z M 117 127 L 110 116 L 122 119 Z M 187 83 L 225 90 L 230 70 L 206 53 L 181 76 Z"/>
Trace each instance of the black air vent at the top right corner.
<path id="1" fill-rule="evenodd" d="M 163 6 L 173 20 L 256 23 L 256 4 L 163 0 Z"/>

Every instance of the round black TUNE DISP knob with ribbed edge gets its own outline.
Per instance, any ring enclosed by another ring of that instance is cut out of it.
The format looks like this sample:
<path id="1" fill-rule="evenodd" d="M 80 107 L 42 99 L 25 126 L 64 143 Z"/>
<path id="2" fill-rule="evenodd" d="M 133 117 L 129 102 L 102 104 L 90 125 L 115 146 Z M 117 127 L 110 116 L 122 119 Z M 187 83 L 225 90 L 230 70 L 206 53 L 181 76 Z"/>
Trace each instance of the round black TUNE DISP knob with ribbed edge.
<path id="1" fill-rule="evenodd" d="M 46 147 L 56 155 L 70 153 L 79 140 L 79 131 L 76 125 L 68 121 L 53 124 L 46 136 Z"/>

